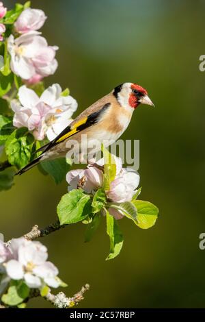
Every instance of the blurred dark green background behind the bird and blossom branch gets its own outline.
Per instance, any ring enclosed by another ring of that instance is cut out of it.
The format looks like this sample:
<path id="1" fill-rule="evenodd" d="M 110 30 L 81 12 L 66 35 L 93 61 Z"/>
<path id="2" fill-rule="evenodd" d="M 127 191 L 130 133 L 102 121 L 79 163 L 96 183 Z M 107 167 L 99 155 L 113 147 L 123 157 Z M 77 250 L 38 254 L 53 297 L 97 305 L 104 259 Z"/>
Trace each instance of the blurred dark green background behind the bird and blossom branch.
<path id="1" fill-rule="evenodd" d="M 4 1 L 8 8 L 14 2 Z M 66 293 L 90 283 L 80 308 L 205 307 L 198 246 L 205 231 L 205 1 L 35 0 L 32 7 L 46 12 L 43 36 L 59 46 L 59 68 L 46 85 L 68 86 L 77 114 L 122 82 L 144 86 L 156 106 L 140 106 L 122 138 L 140 140 L 141 199 L 156 204 L 160 217 L 150 230 L 120 221 L 124 247 L 108 262 L 105 222 L 90 243 L 81 223 L 42 239 Z M 0 196 L 5 239 L 55 221 L 66 190 L 38 169 L 16 177 Z"/>

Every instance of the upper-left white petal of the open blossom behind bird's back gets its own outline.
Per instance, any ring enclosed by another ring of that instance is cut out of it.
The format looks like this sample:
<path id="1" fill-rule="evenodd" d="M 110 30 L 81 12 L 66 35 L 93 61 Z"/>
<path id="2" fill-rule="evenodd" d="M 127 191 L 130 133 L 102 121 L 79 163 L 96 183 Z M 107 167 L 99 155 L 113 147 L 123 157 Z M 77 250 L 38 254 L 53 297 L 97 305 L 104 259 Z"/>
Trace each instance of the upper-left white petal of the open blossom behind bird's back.
<path id="1" fill-rule="evenodd" d="M 18 90 L 18 97 L 20 103 L 25 106 L 25 108 L 33 108 L 39 101 L 38 95 L 34 90 L 27 88 L 27 86 L 20 86 Z"/>

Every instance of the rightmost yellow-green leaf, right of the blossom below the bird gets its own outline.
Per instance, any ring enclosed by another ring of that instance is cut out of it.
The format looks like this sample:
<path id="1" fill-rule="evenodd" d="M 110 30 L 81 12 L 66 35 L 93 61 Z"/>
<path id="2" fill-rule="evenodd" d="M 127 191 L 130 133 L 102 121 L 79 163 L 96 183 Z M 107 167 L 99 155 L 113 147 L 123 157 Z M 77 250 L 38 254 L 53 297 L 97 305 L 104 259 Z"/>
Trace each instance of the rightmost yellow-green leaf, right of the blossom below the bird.
<path id="1" fill-rule="evenodd" d="M 159 215 L 159 209 L 149 201 L 135 200 L 133 205 L 137 209 L 137 225 L 144 230 L 152 227 Z"/>

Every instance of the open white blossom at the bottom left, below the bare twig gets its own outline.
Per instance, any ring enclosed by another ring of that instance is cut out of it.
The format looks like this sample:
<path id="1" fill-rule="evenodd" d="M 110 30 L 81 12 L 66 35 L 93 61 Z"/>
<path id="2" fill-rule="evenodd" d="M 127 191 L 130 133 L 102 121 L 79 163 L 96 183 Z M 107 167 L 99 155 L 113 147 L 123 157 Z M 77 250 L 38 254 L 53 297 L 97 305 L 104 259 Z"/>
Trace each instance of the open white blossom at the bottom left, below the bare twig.
<path id="1" fill-rule="evenodd" d="M 8 277 L 24 280 L 29 288 L 41 288 L 44 284 L 59 286 L 58 269 L 47 258 L 47 249 L 40 242 L 23 237 L 12 239 L 8 247 L 0 242 L 0 260 Z"/>

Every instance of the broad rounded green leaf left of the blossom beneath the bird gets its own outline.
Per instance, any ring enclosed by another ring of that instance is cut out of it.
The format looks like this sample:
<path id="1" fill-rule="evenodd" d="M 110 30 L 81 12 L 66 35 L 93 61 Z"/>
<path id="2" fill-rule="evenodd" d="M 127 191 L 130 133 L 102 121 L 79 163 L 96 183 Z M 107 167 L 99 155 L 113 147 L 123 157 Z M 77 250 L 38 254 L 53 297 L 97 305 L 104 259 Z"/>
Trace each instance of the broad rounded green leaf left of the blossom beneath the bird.
<path id="1" fill-rule="evenodd" d="M 92 212 L 90 196 L 82 190 L 74 189 L 61 197 L 57 214 L 61 225 L 83 221 Z"/>

